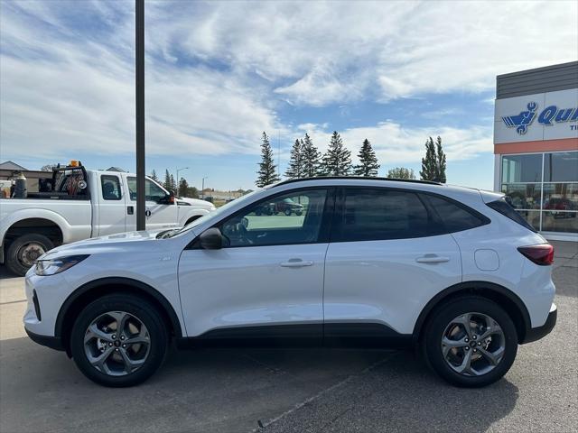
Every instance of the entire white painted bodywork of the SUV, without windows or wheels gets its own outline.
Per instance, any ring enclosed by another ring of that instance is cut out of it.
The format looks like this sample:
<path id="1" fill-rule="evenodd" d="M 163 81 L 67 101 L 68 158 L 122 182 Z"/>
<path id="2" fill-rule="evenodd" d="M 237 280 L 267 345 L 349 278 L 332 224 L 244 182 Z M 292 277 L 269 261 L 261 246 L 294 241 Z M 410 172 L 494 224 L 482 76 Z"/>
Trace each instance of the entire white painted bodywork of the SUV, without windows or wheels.
<path id="1" fill-rule="evenodd" d="M 260 198 L 304 187 L 346 185 L 430 191 L 480 211 L 491 224 L 415 239 L 185 249 L 205 229 Z M 483 197 L 475 189 L 384 180 L 305 180 L 258 190 L 171 238 L 135 232 L 52 250 L 42 259 L 90 255 L 61 274 L 39 277 L 33 270 L 28 272 L 24 324 L 35 334 L 54 336 L 59 310 L 75 290 L 90 281 L 122 277 L 142 281 L 162 294 L 179 318 L 183 336 L 200 336 L 221 327 L 334 321 L 380 323 L 406 335 L 436 294 L 462 281 L 489 281 L 515 293 L 526 306 L 532 326 L 538 327 L 544 324 L 554 297 L 552 267 L 531 263 L 517 252 L 517 246 L 541 244 L 544 238 L 487 207 Z M 495 252 L 498 269 L 481 264 L 482 259 L 476 263 L 479 250 Z M 430 257 L 427 254 L 448 260 L 415 262 Z M 312 265 L 280 266 L 295 258 Z M 34 314 L 33 290 L 42 306 L 42 321 Z"/>

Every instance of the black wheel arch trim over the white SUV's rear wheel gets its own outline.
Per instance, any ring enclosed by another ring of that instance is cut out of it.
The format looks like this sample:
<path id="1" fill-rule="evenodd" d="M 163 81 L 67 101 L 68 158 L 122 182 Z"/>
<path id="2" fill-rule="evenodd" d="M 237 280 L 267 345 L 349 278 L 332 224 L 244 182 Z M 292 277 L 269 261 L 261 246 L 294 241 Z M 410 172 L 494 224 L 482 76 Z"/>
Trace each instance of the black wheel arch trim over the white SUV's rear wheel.
<path id="1" fill-rule="evenodd" d="M 444 302 L 463 295 L 477 295 L 499 304 L 514 322 L 518 343 L 521 344 L 526 339 L 527 330 L 531 328 L 530 315 L 524 302 L 519 299 L 516 293 L 499 284 L 488 281 L 464 281 L 442 290 L 425 305 L 415 321 L 413 333 L 415 343 L 422 336 L 424 325 L 431 317 L 433 311 Z"/>

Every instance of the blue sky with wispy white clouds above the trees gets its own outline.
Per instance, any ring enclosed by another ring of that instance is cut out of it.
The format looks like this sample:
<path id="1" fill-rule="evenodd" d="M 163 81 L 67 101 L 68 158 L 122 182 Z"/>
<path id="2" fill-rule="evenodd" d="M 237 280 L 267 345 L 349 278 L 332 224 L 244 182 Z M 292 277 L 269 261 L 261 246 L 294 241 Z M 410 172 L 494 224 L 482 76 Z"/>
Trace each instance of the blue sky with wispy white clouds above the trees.
<path id="1" fill-rule="evenodd" d="M 0 1 L 0 161 L 135 170 L 131 1 Z M 146 170 L 252 189 L 265 131 L 493 186 L 496 76 L 578 59 L 578 2 L 145 1 Z"/>

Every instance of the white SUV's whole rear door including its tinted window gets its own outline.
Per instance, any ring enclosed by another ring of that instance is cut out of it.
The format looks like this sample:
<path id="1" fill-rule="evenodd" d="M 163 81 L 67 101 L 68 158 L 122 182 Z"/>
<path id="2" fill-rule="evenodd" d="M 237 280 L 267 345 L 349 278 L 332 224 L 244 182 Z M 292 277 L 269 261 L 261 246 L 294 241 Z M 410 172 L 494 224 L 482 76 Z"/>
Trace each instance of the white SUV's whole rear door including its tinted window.
<path id="1" fill-rule="evenodd" d="M 461 281 L 458 245 L 410 189 L 341 189 L 325 263 L 327 338 L 413 332 L 433 296 Z"/>

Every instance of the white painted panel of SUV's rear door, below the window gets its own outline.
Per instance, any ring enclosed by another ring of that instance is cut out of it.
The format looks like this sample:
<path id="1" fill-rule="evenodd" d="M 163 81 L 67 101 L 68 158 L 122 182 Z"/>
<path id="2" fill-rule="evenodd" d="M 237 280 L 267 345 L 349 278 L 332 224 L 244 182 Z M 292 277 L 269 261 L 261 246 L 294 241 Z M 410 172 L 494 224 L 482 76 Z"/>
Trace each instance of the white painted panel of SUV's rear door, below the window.
<path id="1" fill-rule="evenodd" d="M 447 262 L 416 262 L 428 256 Z M 460 250 L 452 235 L 331 243 L 325 321 L 374 322 L 411 334 L 427 302 L 459 282 Z"/>

